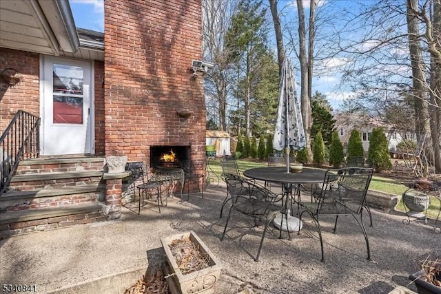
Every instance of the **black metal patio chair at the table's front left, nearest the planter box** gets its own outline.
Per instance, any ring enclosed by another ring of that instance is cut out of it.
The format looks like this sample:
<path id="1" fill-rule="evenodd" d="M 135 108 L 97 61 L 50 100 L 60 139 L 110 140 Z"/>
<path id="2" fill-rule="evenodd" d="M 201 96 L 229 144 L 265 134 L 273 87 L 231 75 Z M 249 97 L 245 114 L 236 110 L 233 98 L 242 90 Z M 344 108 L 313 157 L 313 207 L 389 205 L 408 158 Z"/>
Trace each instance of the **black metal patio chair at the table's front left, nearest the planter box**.
<path id="1" fill-rule="evenodd" d="M 229 220 L 232 216 L 232 211 L 238 211 L 245 216 L 250 216 L 254 220 L 254 226 L 257 227 L 258 220 L 265 220 L 265 228 L 260 239 L 259 248 L 254 261 L 258 261 L 260 251 L 263 247 L 263 240 L 269 224 L 274 218 L 280 214 L 282 207 L 276 204 L 278 196 L 272 193 L 265 187 L 256 185 L 247 181 L 245 178 L 239 178 L 236 176 L 229 176 L 226 179 L 227 193 L 232 200 L 232 206 L 229 209 L 227 222 L 225 223 L 225 229 L 223 231 L 222 241 L 225 238 Z"/>

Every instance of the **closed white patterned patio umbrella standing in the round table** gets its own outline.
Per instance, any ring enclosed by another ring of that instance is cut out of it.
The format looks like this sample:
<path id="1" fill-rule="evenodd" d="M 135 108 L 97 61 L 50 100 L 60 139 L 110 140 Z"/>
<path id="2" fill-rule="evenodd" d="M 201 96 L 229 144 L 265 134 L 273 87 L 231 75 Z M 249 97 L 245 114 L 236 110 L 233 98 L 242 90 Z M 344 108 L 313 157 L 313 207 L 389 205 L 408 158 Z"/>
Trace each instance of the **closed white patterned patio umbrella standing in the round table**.
<path id="1" fill-rule="evenodd" d="M 289 173 L 289 150 L 306 147 L 300 101 L 296 93 L 296 81 L 291 60 L 285 57 L 278 87 L 278 107 L 273 148 L 286 151 L 287 173 Z"/>

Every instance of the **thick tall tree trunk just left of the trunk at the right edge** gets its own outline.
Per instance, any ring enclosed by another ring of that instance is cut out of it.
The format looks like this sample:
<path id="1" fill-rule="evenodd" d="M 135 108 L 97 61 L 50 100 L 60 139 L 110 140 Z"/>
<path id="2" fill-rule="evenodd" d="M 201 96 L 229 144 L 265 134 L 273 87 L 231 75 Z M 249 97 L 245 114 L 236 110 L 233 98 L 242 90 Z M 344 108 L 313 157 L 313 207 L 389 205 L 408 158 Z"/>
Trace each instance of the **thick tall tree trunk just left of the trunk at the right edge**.
<path id="1" fill-rule="evenodd" d="M 424 153 L 427 158 L 431 158 L 429 150 L 431 147 L 429 112 L 427 109 L 427 91 L 424 90 L 424 61 L 421 54 L 421 44 L 419 39 L 418 18 L 413 12 L 413 8 L 418 8 L 418 0 L 407 1 L 407 32 L 409 33 L 409 52 L 412 66 L 412 90 L 415 107 L 415 130 L 418 147 L 424 146 Z M 423 142 L 426 140 L 426 142 Z"/>

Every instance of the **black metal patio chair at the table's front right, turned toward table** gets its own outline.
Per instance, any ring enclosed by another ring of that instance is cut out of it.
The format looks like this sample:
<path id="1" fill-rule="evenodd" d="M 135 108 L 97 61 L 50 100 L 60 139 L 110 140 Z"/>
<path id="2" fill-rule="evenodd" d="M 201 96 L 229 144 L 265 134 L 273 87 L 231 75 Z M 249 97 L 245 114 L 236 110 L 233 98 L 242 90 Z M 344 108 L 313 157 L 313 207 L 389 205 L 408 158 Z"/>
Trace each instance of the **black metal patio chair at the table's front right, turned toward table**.
<path id="1" fill-rule="evenodd" d="M 322 231 L 320 228 L 319 216 L 336 216 L 333 232 L 336 233 L 338 216 L 353 216 L 360 225 L 365 235 L 367 246 L 367 260 L 371 260 L 369 240 L 365 226 L 362 222 L 362 211 L 365 208 L 367 189 L 371 182 L 373 169 L 365 168 L 344 168 L 328 170 L 323 180 L 322 189 L 319 195 L 315 195 L 316 202 L 301 202 L 300 220 L 303 213 L 309 214 L 316 224 L 322 262 L 325 262 L 323 251 Z M 358 220 L 357 216 L 360 216 Z M 300 231 L 298 232 L 300 233 Z"/>

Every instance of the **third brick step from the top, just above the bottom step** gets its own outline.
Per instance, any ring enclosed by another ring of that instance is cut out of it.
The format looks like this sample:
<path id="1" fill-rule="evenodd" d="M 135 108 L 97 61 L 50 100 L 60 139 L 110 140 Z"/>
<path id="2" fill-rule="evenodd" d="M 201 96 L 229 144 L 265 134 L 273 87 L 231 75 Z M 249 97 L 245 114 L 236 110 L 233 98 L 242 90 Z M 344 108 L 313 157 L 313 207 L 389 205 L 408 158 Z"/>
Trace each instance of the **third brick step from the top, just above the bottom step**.
<path id="1" fill-rule="evenodd" d="M 0 209 L 1 211 L 41 209 L 82 202 L 103 202 L 104 199 L 105 187 L 97 184 L 59 189 L 9 191 L 0 198 Z"/>

